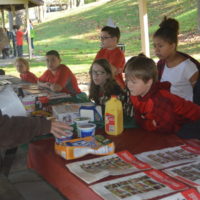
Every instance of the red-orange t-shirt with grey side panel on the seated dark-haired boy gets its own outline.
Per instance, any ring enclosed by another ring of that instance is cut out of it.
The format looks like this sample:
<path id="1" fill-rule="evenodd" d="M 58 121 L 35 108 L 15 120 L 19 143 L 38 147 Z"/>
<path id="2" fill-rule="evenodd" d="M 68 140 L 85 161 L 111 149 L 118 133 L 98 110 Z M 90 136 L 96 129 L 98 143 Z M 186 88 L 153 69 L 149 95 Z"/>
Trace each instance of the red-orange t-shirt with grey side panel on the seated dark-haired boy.
<path id="1" fill-rule="evenodd" d="M 66 92 L 67 94 L 76 95 L 81 92 L 76 77 L 71 70 L 63 64 L 57 68 L 55 75 L 49 69 L 46 70 L 39 78 L 39 81 L 58 84 L 63 88 L 61 92 Z"/>

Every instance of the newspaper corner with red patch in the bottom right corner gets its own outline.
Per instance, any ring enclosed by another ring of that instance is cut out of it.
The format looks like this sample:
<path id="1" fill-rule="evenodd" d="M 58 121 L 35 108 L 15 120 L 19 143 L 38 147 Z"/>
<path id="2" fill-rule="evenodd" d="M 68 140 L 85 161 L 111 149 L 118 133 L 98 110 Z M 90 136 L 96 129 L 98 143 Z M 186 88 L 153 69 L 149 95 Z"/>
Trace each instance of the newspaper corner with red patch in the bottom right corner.
<path id="1" fill-rule="evenodd" d="M 178 192 L 176 194 L 170 195 L 160 200 L 199 200 L 199 199 L 200 199 L 200 193 L 192 188 L 185 190 L 183 192 Z"/>

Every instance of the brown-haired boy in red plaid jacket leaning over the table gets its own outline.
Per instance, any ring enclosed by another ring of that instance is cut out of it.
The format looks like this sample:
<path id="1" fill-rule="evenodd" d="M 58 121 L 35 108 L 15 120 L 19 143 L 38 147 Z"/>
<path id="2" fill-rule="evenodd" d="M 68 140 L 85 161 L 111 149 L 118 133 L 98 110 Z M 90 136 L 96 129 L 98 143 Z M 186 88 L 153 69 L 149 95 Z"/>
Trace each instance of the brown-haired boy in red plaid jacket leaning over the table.
<path id="1" fill-rule="evenodd" d="M 144 55 L 125 65 L 137 123 L 147 131 L 200 139 L 200 106 L 170 93 L 170 83 L 158 82 L 157 76 L 155 62 Z"/>

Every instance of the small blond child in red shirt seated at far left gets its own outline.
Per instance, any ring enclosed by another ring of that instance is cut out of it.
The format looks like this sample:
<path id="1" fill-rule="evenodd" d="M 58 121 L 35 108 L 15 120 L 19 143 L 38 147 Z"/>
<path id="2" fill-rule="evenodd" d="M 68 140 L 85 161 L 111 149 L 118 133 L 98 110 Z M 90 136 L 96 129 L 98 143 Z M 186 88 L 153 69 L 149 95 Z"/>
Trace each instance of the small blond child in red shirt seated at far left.
<path id="1" fill-rule="evenodd" d="M 16 66 L 17 71 L 20 73 L 20 78 L 23 81 L 30 83 L 37 83 L 38 78 L 29 71 L 29 63 L 24 58 L 17 58 L 14 65 Z"/>

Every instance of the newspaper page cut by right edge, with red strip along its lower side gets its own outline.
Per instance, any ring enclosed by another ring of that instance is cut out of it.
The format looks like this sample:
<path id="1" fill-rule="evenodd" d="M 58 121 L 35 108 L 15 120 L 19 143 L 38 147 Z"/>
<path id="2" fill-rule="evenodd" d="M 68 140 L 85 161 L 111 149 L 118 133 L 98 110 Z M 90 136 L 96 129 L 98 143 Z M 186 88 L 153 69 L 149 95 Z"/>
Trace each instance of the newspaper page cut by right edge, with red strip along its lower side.
<path id="1" fill-rule="evenodd" d="M 164 170 L 168 175 L 197 187 L 200 191 L 200 160 Z"/>

